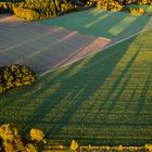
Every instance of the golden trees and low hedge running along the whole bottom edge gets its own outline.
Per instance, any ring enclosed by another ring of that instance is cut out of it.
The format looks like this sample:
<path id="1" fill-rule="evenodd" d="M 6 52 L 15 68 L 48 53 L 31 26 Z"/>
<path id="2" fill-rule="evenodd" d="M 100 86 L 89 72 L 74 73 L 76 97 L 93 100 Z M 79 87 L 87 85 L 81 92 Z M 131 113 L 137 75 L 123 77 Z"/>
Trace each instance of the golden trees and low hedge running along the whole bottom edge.
<path id="1" fill-rule="evenodd" d="M 42 130 L 37 128 L 31 128 L 29 134 L 23 136 L 20 130 L 10 125 L 4 124 L 0 126 L 0 151 L 2 152 L 41 152 L 43 150 L 51 151 L 51 148 L 48 148 L 47 140 L 45 139 L 45 134 Z M 53 147 L 54 149 L 54 147 Z M 132 151 L 152 151 L 152 144 L 147 143 L 145 147 L 123 147 L 122 144 L 118 147 L 79 147 L 78 142 L 72 140 L 69 149 L 63 145 L 56 145 L 56 151 L 115 151 L 115 152 L 132 152 Z"/>

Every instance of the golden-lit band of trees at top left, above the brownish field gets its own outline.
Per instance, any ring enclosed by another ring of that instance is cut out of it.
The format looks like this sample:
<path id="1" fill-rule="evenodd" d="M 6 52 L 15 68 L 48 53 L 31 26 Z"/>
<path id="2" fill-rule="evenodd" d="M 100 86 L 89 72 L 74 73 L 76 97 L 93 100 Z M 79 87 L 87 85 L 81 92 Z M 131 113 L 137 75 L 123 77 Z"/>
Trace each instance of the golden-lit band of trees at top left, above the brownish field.
<path id="1" fill-rule="evenodd" d="M 0 13 L 13 12 L 16 16 L 27 21 L 53 17 L 75 9 L 76 5 L 67 0 L 0 2 Z"/>

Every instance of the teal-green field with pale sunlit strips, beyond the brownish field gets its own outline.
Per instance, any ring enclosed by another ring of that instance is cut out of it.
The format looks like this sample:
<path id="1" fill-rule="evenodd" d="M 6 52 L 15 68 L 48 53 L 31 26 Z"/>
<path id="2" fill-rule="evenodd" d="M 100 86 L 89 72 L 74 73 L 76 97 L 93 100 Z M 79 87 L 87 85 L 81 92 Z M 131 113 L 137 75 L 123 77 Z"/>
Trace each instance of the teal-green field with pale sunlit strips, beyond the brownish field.
<path id="1" fill-rule="evenodd" d="M 96 9 L 38 22 L 110 39 L 124 37 L 142 29 L 143 26 L 152 25 L 152 18 L 149 16 L 134 16 L 129 13 L 99 11 Z"/>

